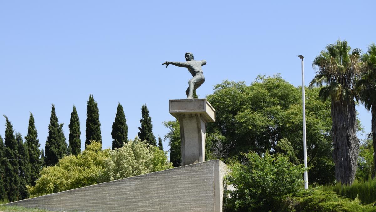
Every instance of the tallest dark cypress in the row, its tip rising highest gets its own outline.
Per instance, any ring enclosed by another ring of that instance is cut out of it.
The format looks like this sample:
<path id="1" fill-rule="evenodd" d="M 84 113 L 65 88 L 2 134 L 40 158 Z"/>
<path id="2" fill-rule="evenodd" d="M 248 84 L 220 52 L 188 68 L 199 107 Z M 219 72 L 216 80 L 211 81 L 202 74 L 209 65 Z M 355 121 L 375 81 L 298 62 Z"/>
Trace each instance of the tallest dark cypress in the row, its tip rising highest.
<path id="1" fill-rule="evenodd" d="M 89 95 L 88 112 L 86 119 L 86 140 L 85 148 L 90 144 L 91 140 L 102 143 L 102 135 L 100 134 L 99 109 L 98 103 L 94 101 L 92 94 Z"/>

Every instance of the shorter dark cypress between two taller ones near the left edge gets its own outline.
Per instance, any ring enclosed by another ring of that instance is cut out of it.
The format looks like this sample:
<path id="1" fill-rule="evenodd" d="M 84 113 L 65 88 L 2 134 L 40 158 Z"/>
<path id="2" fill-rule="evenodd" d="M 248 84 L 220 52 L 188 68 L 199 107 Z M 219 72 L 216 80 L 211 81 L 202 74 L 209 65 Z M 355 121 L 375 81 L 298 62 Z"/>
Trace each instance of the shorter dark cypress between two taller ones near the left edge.
<path id="1" fill-rule="evenodd" d="M 16 133 L 16 141 L 18 147 L 18 165 L 20 168 L 18 171 L 18 176 L 20 177 L 20 187 L 18 190 L 20 192 L 20 199 L 24 200 L 29 196 L 26 188 L 26 185 L 30 184 L 29 152 L 27 151 L 27 144 L 23 143 L 20 133 Z"/>

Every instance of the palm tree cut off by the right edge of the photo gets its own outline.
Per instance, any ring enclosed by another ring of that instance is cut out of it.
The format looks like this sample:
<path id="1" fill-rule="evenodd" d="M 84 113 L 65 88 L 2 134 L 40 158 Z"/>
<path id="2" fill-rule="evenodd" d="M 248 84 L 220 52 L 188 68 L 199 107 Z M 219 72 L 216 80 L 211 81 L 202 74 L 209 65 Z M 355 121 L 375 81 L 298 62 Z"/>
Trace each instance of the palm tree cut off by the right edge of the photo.
<path id="1" fill-rule="evenodd" d="M 370 111 L 372 115 L 371 120 L 371 137 L 373 149 L 376 151 L 376 46 L 372 43 L 368 46 L 367 54 L 362 55 L 362 74 L 356 87 L 359 89 L 359 99 L 364 103 L 365 108 Z M 376 171 L 376 154 L 373 153 L 373 173 L 375 177 Z"/>

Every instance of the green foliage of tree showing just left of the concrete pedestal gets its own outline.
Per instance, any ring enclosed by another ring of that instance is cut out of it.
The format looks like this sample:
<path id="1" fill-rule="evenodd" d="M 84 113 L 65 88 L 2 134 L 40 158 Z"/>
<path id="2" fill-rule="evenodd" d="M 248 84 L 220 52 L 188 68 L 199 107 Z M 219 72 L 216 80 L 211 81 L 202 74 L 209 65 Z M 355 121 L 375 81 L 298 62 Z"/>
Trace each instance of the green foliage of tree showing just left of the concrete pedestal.
<path id="1" fill-rule="evenodd" d="M 170 146 L 170 162 L 174 167 L 181 166 L 182 151 L 179 121 L 164 121 L 163 125 L 169 130 L 165 135 L 165 139 L 168 139 L 168 145 Z"/>

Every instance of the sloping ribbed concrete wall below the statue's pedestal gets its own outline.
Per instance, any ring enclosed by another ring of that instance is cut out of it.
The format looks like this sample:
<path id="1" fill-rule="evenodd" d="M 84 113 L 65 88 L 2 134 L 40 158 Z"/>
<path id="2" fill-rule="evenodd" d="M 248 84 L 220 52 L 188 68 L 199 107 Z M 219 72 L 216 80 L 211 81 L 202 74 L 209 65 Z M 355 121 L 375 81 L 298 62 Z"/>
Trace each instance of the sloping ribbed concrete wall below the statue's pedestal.
<path id="1" fill-rule="evenodd" d="M 7 203 L 53 211 L 222 211 L 226 164 L 210 160 Z"/>

